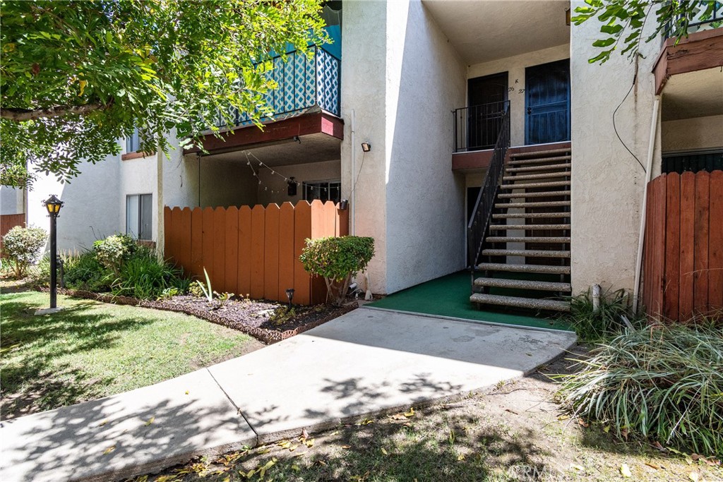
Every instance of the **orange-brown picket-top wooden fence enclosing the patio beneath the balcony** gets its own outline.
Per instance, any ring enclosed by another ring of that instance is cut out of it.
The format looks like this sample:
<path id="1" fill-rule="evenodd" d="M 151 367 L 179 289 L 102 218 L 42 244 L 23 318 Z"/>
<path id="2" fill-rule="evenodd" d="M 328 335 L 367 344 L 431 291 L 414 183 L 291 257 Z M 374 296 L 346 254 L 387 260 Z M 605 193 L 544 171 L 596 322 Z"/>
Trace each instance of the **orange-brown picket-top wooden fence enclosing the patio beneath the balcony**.
<path id="1" fill-rule="evenodd" d="M 318 304 L 326 298 L 320 277 L 310 277 L 299 261 L 307 238 L 346 236 L 348 210 L 318 199 L 309 204 L 285 202 L 281 207 L 174 207 L 164 210 L 166 258 L 204 280 L 213 290 L 254 299 Z"/>

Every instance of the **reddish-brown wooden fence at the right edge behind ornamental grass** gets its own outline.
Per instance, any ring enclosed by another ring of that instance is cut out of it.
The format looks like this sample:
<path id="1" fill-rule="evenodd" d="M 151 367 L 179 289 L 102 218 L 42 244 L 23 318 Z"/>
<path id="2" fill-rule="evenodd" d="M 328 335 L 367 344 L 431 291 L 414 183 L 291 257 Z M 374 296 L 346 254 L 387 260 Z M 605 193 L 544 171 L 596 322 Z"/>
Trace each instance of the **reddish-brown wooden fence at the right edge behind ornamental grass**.
<path id="1" fill-rule="evenodd" d="M 723 308 L 723 171 L 650 182 L 643 304 L 653 317 L 680 322 Z"/>

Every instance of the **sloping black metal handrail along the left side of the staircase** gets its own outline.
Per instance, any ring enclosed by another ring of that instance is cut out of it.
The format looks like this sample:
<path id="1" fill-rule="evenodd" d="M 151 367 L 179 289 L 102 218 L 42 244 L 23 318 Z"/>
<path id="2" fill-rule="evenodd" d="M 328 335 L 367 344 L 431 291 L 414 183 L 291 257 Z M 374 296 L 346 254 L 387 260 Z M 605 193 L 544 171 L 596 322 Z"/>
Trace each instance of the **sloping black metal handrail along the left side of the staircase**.
<path id="1" fill-rule="evenodd" d="M 510 147 L 509 104 L 508 108 L 502 113 L 502 123 L 497 135 L 497 142 L 495 142 L 495 150 L 492 152 L 492 160 L 489 162 L 487 176 L 484 176 L 484 184 L 482 184 L 482 189 L 479 190 L 474 212 L 467 225 L 468 259 L 473 271 L 479 259 L 479 254 L 482 253 L 484 233 L 487 232 L 489 220 L 492 218 L 492 208 L 495 206 L 497 188 L 500 186 L 502 172 L 505 170 L 505 156 L 508 147 Z"/>

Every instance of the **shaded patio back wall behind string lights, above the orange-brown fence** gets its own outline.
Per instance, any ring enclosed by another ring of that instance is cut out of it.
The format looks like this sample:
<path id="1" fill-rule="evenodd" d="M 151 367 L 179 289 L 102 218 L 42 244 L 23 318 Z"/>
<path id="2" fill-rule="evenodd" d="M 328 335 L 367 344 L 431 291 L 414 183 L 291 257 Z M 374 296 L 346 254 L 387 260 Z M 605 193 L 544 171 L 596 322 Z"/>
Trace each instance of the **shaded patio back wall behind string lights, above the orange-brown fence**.
<path id="1" fill-rule="evenodd" d="M 296 196 L 288 195 L 288 184 L 283 177 L 278 174 L 272 174 L 268 169 L 262 169 L 259 178 L 262 182 L 258 186 L 257 203 L 260 205 L 268 205 L 275 202 L 281 205 L 283 202 L 296 203 L 304 198 L 304 189 L 301 187 L 303 182 L 317 181 L 339 181 L 341 179 L 341 162 L 339 160 L 329 160 L 323 163 L 306 163 L 298 165 L 280 165 L 278 173 L 299 183 L 296 186 Z M 267 189 L 268 188 L 268 189 Z M 271 191 L 277 191 L 273 193 Z M 281 192 L 278 192 L 281 191 Z M 341 191 L 341 199 L 347 199 L 348 192 Z"/>

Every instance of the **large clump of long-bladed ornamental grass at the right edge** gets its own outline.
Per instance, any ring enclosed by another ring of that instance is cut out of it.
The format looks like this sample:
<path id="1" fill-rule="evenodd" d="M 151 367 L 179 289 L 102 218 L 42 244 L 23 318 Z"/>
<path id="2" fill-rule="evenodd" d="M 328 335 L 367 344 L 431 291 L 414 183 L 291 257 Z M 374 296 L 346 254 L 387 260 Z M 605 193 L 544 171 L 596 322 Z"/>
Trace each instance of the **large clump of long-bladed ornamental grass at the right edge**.
<path id="1" fill-rule="evenodd" d="M 617 436 L 723 457 L 723 330 L 693 325 L 629 330 L 599 345 L 560 400 Z"/>

